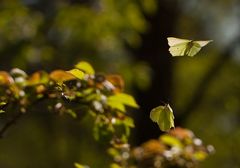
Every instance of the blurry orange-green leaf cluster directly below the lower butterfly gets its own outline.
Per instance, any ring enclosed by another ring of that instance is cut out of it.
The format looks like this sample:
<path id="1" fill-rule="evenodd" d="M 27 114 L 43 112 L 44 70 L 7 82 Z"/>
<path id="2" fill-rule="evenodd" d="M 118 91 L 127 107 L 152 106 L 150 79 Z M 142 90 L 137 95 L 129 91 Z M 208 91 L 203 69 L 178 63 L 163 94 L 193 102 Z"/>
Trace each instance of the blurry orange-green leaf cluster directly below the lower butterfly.
<path id="1" fill-rule="evenodd" d="M 177 127 L 133 149 L 132 157 L 138 168 L 194 168 L 212 152 L 213 146 L 203 145 L 192 131 Z"/>

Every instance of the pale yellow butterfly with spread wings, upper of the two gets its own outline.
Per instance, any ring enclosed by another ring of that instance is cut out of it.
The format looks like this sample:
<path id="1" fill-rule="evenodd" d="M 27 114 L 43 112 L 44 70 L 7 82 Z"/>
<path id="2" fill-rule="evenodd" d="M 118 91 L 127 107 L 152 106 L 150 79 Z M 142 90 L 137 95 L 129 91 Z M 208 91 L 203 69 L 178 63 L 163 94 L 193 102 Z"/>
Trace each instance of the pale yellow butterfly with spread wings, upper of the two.
<path id="1" fill-rule="evenodd" d="M 168 37 L 169 51 L 172 56 L 194 56 L 202 47 L 206 46 L 212 40 L 194 41 L 188 39 L 180 39 L 175 37 Z"/>

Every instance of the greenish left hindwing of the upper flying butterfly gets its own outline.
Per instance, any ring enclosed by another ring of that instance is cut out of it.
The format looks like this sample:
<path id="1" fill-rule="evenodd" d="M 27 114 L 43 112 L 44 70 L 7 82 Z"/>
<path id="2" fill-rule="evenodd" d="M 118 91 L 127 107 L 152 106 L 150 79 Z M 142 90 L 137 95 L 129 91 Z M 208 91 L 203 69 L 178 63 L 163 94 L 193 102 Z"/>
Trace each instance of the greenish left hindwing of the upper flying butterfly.
<path id="1" fill-rule="evenodd" d="M 188 50 L 188 43 L 189 42 L 184 42 L 184 43 L 180 43 L 180 44 L 170 47 L 169 51 L 170 51 L 171 55 L 174 57 L 175 56 L 184 56 Z"/>

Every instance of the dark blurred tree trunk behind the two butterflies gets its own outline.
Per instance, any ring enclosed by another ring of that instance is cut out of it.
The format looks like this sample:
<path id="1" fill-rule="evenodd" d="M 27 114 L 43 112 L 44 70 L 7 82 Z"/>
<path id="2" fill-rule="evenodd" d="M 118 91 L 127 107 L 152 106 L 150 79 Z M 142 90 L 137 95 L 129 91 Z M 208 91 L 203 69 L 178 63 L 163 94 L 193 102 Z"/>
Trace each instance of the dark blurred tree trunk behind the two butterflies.
<path id="1" fill-rule="evenodd" d="M 160 135 L 159 128 L 149 118 L 150 110 L 170 103 L 172 91 L 172 62 L 168 52 L 167 37 L 174 36 L 177 20 L 177 3 L 172 0 L 158 1 L 158 11 L 146 16 L 150 30 L 142 35 L 142 47 L 135 52 L 136 59 L 146 61 L 152 68 L 152 85 L 148 90 L 136 90 L 141 106 L 136 119 L 136 141 L 142 143 Z"/>

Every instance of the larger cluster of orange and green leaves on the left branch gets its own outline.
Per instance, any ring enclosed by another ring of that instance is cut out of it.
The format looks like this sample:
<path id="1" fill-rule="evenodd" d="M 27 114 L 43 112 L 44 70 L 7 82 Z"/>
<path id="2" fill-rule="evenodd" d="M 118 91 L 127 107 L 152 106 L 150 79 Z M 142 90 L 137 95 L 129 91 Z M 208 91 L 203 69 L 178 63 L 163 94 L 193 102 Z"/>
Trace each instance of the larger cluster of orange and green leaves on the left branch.
<path id="1" fill-rule="evenodd" d="M 94 136 L 127 141 L 133 120 L 125 106 L 138 108 L 134 98 L 123 93 L 123 80 L 117 75 L 95 74 L 87 62 L 69 71 L 35 72 L 28 76 L 20 69 L 0 71 L 0 112 L 17 107 L 24 114 L 42 100 L 48 109 L 72 117 L 89 114 L 94 119 Z"/>

